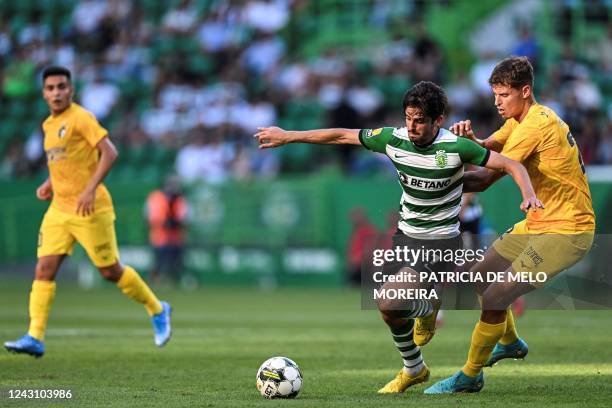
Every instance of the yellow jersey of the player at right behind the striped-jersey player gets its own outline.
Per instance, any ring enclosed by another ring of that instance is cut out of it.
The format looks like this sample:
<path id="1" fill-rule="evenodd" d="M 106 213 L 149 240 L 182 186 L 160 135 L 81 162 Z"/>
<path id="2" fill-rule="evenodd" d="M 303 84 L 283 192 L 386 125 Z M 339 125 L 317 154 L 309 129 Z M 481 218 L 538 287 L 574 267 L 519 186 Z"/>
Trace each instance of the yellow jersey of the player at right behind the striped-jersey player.
<path id="1" fill-rule="evenodd" d="M 534 233 L 595 229 L 595 213 L 584 163 L 569 126 L 550 108 L 534 104 L 521 123 L 508 119 L 493 134 L 501 154 L 521 162 L 545 208 L 527 213 Z"/>

